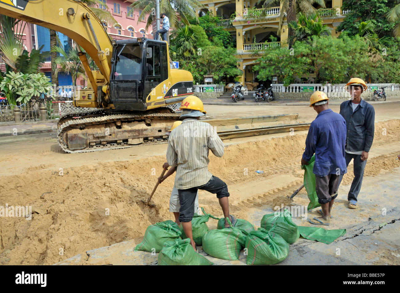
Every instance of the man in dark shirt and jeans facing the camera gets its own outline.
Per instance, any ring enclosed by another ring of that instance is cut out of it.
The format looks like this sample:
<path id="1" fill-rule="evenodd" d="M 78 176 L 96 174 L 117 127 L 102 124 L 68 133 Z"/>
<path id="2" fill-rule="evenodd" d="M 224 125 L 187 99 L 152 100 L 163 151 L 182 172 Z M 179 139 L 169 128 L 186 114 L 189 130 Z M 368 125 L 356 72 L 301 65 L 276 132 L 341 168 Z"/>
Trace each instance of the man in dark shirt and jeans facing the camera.
<path id="1" fill-rule="evenodd" d="M 346 120 L 346 166 L 353 159 L 354 179 L 348 193 L 348 207 L 357 208 L 357 197 L 360 193 L 362 177 L 368 159 L 368 153 L 374 140 L 375 110 L 361 99 L 361 94 L 367 89 L 361 78 L 352 78 L 346 84 L 351 100 L 340 104 L 340 115 Z M 340 182 L 342 181 L 340 178 Z M 339 183 L 340 184 L 340 183 Z"/>

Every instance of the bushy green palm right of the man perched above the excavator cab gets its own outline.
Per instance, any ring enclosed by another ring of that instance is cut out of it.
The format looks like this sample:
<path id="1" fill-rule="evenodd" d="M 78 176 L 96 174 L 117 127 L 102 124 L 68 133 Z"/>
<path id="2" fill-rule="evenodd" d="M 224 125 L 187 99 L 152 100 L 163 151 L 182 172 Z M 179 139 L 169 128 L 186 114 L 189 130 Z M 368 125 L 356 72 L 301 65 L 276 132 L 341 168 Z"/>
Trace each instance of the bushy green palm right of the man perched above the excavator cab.
<path id="1" fill-rule="evenodd" d="M 197 38 L 188 25 L 176 28 L 172 34 L 174 36 L 171 44 L 171 46 L 174 46 L 171 50 L 173 58 L 177 56 L 188 58 L 196 54 Z"/>

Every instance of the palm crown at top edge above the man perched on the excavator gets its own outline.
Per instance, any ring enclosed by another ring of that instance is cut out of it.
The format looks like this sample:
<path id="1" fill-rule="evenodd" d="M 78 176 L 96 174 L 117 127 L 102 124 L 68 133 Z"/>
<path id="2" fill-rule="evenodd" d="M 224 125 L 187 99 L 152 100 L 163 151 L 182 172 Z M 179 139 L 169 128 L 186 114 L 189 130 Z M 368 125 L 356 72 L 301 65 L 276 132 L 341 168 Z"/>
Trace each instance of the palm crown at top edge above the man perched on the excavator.
<path id="1" fill-rule="evenodd" d="M 130 5 L 133 9 L 142 10 L 141 17 L 138 19 L 144 19 L 144 15 L 148 14 L 146 22 L 146 30 L 150 27 L 154 20 L 156 20 L 156 1 L 150 0 L 138 0 Z M 198 20 L 196 11 L 203 8 L 204 5 L 197 0 L 160 0 L 160 13 L 167 14 L 170 19 L 172 27 L 178 27 L 179 21 L 181 20 L 184 24 L 189 24 L 188 18 L 195 18 Z M 180 20 L 178 19 L 180 16 Z M 153 32 L 155 33 L 155 32 Z"/>

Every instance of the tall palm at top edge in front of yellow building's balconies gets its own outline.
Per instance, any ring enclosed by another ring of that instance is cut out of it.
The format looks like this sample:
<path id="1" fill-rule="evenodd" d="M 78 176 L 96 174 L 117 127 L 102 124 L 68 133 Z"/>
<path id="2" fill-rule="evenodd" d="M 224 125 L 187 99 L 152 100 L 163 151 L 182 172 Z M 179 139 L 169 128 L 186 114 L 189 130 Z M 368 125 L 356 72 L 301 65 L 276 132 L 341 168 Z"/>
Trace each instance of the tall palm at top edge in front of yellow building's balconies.
<path id="1" fill-rule="evenodd" d="M 261 0 L 258 0 L 257 4 L 260 4 Z M 289 24 L 292 21 L 296 21 L 296 13 L 303 12 L 303 13 L 310 13 L 314 12 L 316 9 L 313 4 L 318 4 L 322 8 L 325 8 L 325 1 L 324 0 L 265 0 L 263 7 L 264 12 L 268 10 L 268 7 L 271 5 L 280 5 L 282 4 L 282 8 L 280 10 L 279 16 L 279 29 L 278 34 L 282 30 L 283 20 L 286 17 L 286 21 Z M 288 44 L 289 48 L 292 48 L 292 42 L 290 39 L 293 40 L 294 32 L 292 28 L 288 27 Z M 292 38 L 290 38 L 292 37 Z"/>

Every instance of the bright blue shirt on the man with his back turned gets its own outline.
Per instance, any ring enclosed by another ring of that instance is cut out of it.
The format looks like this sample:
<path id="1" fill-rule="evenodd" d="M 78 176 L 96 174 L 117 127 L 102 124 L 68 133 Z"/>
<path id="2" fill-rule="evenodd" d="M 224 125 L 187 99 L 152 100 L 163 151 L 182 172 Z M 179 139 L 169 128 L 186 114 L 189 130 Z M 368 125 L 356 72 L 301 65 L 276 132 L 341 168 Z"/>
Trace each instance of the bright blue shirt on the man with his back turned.
<path id="1" fill-rule="evenodd" d="M 303 159 L 310 161 L 315 153 L 313 173 L 324 177 L 328 174 L 342 175 L 347 172 L 344 159 L 346 144 L 346 121 L 331 109 L 324 110 L 311 122 L 306 138 Z"/>

